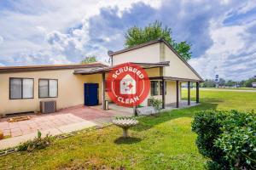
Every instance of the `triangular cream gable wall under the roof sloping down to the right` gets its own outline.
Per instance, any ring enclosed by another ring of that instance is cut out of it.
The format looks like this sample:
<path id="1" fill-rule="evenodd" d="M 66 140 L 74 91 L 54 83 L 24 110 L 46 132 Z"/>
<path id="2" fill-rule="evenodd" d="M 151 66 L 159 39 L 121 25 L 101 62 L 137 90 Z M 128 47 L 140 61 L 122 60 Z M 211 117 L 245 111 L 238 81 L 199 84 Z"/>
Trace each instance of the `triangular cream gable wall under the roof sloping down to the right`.
<path id="1" fill-rule="evenodd" d="M 172 49 L 168 48 L 164 42 L 161 43 L 161 52 L 165 61 L 170 61 L 170 65 L 163 68 L 164 77 L 178 77 L 200 80 L 193 71 L 189 69 L 187 65 L 183 63 L 176 54 L 172 52 Z M 161 57 L 162 58 L 162 57 Z"/>

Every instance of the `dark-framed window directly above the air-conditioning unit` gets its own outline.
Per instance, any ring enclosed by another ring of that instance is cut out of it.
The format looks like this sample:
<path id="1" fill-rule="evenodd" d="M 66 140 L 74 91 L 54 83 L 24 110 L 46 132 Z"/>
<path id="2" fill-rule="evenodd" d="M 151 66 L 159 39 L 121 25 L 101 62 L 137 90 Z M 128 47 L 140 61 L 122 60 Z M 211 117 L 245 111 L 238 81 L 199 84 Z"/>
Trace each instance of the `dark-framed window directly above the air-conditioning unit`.
<path id="1" fill-rule="evenodd" d="M 39 98 L 56 98 L 58 96 L 58 80 L 39 79 Z"/>

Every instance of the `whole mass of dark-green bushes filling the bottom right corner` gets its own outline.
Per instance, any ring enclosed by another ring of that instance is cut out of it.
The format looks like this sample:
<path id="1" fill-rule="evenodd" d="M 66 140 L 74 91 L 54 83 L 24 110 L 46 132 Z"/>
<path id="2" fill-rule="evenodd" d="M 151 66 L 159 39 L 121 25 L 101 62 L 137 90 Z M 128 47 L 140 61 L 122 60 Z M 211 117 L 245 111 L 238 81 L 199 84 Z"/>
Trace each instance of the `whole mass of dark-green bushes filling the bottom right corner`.
<path id="1" fill-rule="evenodd" d="M 256 168 L 256 114 L 253 111 L 200 111 L 192 131 L 208 169 Z"/>

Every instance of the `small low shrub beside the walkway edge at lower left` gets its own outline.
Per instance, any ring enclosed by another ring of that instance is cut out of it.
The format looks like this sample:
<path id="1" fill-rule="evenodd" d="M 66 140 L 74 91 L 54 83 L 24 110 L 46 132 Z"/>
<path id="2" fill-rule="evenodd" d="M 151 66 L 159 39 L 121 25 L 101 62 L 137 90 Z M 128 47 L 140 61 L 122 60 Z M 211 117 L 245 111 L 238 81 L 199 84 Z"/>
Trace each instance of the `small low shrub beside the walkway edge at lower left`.
<path id="1" fill-rule="evenodd" d="M 41 150 L 49 146 L 51 143 L 51 136 L 46 134 L 44 138 L 42 138 L 42 133 L 38 131 L 38 137 L 32 140 L 28 140 L 18 146 L 19 151 L 32 151 L 32 150 Z"/>

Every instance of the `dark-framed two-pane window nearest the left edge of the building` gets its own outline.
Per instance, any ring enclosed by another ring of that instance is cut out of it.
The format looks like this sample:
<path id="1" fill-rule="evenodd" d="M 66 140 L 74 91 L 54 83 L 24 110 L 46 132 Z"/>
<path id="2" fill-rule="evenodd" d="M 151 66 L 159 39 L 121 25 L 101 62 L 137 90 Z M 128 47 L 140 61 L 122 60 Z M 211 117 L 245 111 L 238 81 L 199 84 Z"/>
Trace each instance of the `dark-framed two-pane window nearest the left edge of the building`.
<path id="1" fill-rule="evenodd" d="M 10 78 L 9 99 L 33 99 L 34 79 L 32 78 Z"/>

